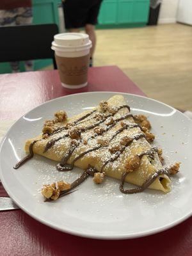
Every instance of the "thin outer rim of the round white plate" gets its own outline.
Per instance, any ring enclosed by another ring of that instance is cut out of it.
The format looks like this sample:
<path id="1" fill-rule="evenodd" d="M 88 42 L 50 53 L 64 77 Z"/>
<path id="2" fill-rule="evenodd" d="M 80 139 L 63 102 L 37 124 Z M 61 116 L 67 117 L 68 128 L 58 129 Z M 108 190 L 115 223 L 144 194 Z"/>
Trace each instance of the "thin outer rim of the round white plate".
<path id="1" fill-rule="evenodd" d="M 3 143 L 4 143 L 5 139 L 6 139 L 6 136 L 7 136 L 8 132 L 10 132 L 10 129 L 12 129 L 13 125 L 15 125 L 17 122 L 19 122 L 20 119 L 22 119 L 24 116 L 28 115 L 34 109 L 40 108 L 41 106 L 43 106 L 45 104 L 49 104 L 49 102 L 52 102 L 54 100 L 58 100 L 58 99 L 62 99 L 62 98 L 67 98 L 67 97 L 74 97 L 74 96 L 76 97 L 77 95 L 97 94 L 97 93 L 99 93 L 99 94 L 111 93 L 111 94 L 114 94 L 114 95 L 115 94 L 122 94 L 122 95 L 128 95 L 128 96 L 130 95 L 130 96 L 141 97 L 141 98 L 144 98 L 144 99 L 152 100 L 152 101 L 155 101 L 155 102 L 157 102 L 159 104 L 163 104 L 164 106 L 166 106 L 168 108 L 171 108 L 172 110 L 175 110 L 180 115 L 182 115 L 184 118 L 188 119 L 188 121 L 191 122 L 191 124 L 192 124 L 192 120 L 188 116 L 184 115 L 184 113 L 180 112 L 178 109 L 175 109 L 172 106 L 170 106 L 170 105 L 168 105 L 168 104 L 166 104 L 164 102 L 161 102 L 159 100 L 152 99 L 152 98 L 149 98 L 149 97 L 145 97 L 145 96 L 142 96 L 142 95 L 136 95 L 136 94 L 133 94 L 133 93 L 125 93 L 125 92 L 106 92 L 106 91 L 105 92 L 99 91 L 99 92 L 73 93 L 73 94 L 70 94 L 70 95 L 65 95 L 65 96 L 57 97 L 57 98 L 54 98 L 54 99 L 51 99 L 51 100 L 47 100 L 46 102 L 36 106 L 35 108 L 30 109 L 27 113 L 25 113 L 24 115 L 20 116 L 20 118 L 15 120 L 15 122 L 8 129 L 8 131 L 3 136 L 3 138 L 2 138 L 2 140 L 0 142 L 0 154 L 1 154 L 2 147 L 3 147 Z M 183 217 L 179 218 L 179 220 L 172 221 L 170 224 L 164 225 L 163 227 L 151 228 L 150 230 L 139 232 L 139 233 L 122 234 L 122 235 L 120 235 L 120 234 L 119 235 L 110 235 L 110 234 L 108 234 L 107 236 L 106 235 L 102 235 L 102 234 L 93 235 L 93 234 L 88 234 L 87 232 L 79 232 L 79 231 L 76 231 L 76 230 L 71 230 L 70 228 L 67 228 L 67 227 L 65 227 L 63 229 L 63 228 L 58 227 L 58 225 L 54 225 L 54 224 L 52 224 L 50 222 L 47 223 L 47 221 L 42 220 L 41 218 L 38 218 L 38 216 L 36 216 L 35 214 L 33 214 L 30 211 L 28 211 L 28 209 L 26 209 L 20 202 L 18 203 L 17 198 L 15 198 L 15 196 L 12 194 L 12 192 L 9 191 L 8 186 L 6 186 L 6 181 L 4 180 L 2 174 L 3 173 L 1 171 L 1 166 L 0 166 L 0 179 L 1 179 L 1 182 L 3 184 L 3 187 L 6 190 L 6 192 L 8 193 L 8 195 L 10 196 L 10 198 L 12 198 L 13 202 L 15 202 L 15 204 L 17 204 L 20 207 L 20 209 L 22 209 L 22 211 L 26 212 L 29 216 L 34 218 L 36 221 L 39 221 L 40 223 L 43 223 L 44 225 L 46 225 L 48 227 L 54 228 L 56 230 L 59 230 L 61 232 L 64 232 L 64 233 L 67 233 L 67 234 L 71 234 L 71 235 L 74 235 L 74 236 L 86 237 L 86 238 L 90 238 L 90 239 L 102 239 L 102 240 L 134 239 L 134 238 L 138 238 L 138 237 L 145 237 L 145 236 L 150 236 L 150 235 L 153 235 L 153 234 L 157 234 L 157 233 L 163 232 L 164 230 L 168 230 L 168 229 L 170 229 L 172 227 L 175 227 L 176 225 L 179 225 L 183 221 L 187 220 L 190 216 L 192 216 L 192 208 L 191 208 L 191 212 L 188 212 L 188 214 L 185 214 Z"/>

